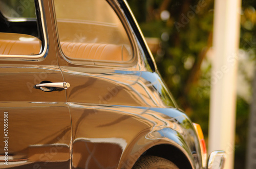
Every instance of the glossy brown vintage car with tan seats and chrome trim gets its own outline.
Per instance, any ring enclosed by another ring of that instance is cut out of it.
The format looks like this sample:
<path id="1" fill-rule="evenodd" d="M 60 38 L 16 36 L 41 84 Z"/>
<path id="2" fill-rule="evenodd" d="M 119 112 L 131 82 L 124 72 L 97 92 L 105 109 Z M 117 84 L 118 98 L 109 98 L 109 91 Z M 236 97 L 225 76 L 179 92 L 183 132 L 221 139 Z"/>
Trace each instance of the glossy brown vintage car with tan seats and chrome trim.
<path id="1" fill-rule="evenodd" d="M 222 168 L 124 0 L 0 0 L 0 168 Z"/>

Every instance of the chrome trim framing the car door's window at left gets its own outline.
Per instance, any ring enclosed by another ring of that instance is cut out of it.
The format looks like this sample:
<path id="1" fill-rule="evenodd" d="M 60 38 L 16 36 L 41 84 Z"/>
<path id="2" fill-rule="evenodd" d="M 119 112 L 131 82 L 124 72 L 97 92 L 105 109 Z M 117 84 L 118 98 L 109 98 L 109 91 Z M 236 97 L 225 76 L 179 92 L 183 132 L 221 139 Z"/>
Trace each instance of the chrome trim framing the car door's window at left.
<path id="1" fill-rule="evenodd" d="M 42 58 L 44 57 L 44 55 L 47 53 L 47 50 L 48 50 L 48 35 L 47 35 L 47 29 L 46 29 L 46 17 L 45 17 L 45 11 L 44 11 L 44 6 L 43 6 L 43 3 L 42 3 L 42 0 L 38 0 L 38 4 L 39 4 L 39 9 L 40 9 L 40 19 L 41 20 L 41 24 L 42 24 L 42 30 L 39 30 L 39 31 L 42 31 L 42 34 L 44 35 L 44 43 L 45 43 L 45 46 L 44 46 L 44 50 L 39 53 L 39 54 L 35 54 L 35 55 L 8 55 L 8 54 L 0 54 L 0 59 L 2 58 L 7 58 L 7 59 L 39 59 L 39 58 Z M 19 20 L 19 19 L 17 19 Z M 17 21 L 16 20 L 16 21 Z M 24 20 L 23 20 L 24 21 Z M 38 33 L 39 34 L 39 33 Z M 42 46 L 41 46 L 42 47 Z"/>

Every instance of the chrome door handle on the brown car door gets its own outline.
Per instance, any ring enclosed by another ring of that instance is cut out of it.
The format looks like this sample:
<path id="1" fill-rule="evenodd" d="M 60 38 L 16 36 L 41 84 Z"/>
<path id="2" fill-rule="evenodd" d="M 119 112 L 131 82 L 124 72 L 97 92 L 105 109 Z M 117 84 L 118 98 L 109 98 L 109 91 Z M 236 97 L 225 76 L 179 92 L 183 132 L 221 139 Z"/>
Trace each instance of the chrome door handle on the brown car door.
<path id="1" fill-rule="evenodd" d="M 70 87 L 70 83 L 68 82 L 40 83 L 34 86 L 34 88 L 41 89 L 42 91 L 45 91 L 45 92 L 53 91 L 54 88 L 68 89 L 69 87 Z"/>

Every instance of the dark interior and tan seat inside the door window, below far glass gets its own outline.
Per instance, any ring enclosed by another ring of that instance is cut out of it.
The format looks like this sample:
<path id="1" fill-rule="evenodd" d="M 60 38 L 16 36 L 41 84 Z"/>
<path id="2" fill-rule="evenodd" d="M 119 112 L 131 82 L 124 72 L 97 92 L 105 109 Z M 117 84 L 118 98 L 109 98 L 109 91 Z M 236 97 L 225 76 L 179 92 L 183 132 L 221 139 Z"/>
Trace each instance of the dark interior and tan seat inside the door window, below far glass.
<path id="1" fill-rule="evenodd" d="M 3 8 L 6 1 L 0 1 Z M 33 4 L 37 5 L 37 4 Z M 2 8 L 1 8 L 2 9 Z M 1 10 L 0 9 L 0 10 Z M 39 18 L 39 14 L 36 14 Z M 36 55 L 42 51 L 44 40 L 39 31 L 41 23 L 36 18 L 10 18 L 0 11 L 0 54 Z"/>

